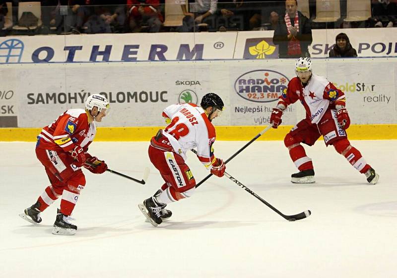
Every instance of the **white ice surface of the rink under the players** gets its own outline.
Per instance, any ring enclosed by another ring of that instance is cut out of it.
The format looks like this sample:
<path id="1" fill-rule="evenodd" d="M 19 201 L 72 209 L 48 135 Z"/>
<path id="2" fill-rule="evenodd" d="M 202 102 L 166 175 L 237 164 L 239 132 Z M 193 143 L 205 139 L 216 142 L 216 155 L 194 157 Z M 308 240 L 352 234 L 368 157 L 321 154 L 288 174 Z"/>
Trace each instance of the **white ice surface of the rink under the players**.
<path id="1" fill-rule="evenodd" d="M 246 142 L 216 142 L 225 160 Z M 369 185 L 322 141 L 306 148 L 316 184 L 293 185 L 296 172 L 282 141 L 254 142 L 226 171 L 284 214 L 288 222 L 227 178 L 211 177 L 190 199 L 168 205 L 172 218 L 155 228 L 137 203 L 162 179 L 147 157 L 146 142 L 94 142 L 93 155 L 111 173 L 86 173 L 74 209 L 74 236 L 51 234 L 59 200 L 32 225 L 18 214 L 49 184 L 35 143 L 0 142 L 0 277 L 266 277 L 389 278 L 397 266 L 397 141 L 352 141 L 380 174 Z M 208 173 L 193 154 L 196 181 Z"/>

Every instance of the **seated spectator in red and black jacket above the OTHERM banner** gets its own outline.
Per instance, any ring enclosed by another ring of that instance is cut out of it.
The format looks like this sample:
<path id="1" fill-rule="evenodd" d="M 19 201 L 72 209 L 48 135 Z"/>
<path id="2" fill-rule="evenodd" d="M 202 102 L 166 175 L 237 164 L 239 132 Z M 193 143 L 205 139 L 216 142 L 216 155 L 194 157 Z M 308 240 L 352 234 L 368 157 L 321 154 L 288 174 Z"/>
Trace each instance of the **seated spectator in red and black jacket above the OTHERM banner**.
<path id="1" fill-rule="evenodd" d="M 132 32 L 141 32 L 142 26 L 148 26 L 150 33 L 159 32 L 164 21 L 160 0 L 127 0 L 127 13 Z"/>

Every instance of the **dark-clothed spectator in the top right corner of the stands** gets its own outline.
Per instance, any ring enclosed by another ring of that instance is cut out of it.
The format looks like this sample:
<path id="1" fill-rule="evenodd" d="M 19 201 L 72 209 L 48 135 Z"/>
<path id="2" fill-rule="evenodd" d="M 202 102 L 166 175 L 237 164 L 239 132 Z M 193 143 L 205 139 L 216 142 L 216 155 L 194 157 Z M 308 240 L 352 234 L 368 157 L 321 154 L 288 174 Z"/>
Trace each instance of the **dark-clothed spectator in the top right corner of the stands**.
<path id="1" fill-rule="evenodd" d="M 397 0 L 372 0 L 375 27 L 393 27 L 397 17 Z"/>

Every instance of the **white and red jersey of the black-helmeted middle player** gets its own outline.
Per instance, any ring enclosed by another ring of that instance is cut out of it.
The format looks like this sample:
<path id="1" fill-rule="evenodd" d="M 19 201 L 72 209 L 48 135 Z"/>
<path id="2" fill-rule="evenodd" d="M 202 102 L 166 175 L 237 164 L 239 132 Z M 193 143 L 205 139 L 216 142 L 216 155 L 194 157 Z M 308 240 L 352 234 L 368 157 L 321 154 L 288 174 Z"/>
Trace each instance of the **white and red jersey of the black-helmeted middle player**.
<path id="1" fill-rule="evenodd" d="M 216 135 L 204 109 L 192 103 L 173 104 L 164 109 L 163 117 L 171 119 L 163 134 L 174 151 L 186 160 L 186 152 L 197 147 L 197 157 L 210 169 Z"/>

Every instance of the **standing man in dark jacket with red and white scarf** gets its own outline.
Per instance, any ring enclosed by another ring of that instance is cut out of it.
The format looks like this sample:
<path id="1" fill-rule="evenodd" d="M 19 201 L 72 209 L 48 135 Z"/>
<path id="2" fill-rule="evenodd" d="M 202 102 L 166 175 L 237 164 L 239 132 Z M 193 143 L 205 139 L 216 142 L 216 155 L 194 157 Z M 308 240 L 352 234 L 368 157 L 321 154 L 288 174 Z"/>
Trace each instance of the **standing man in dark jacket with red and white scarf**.
<path id="1" fill-rule="evenodd" d="M 273 34 L 279 58 L 310 57 L 308 46 L 313 38 L 309 18 L 298 11 L 296 0 L 286 0 L 285 8 L 286 13 L 280 16 Z"/>

